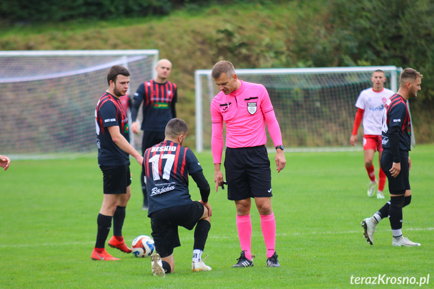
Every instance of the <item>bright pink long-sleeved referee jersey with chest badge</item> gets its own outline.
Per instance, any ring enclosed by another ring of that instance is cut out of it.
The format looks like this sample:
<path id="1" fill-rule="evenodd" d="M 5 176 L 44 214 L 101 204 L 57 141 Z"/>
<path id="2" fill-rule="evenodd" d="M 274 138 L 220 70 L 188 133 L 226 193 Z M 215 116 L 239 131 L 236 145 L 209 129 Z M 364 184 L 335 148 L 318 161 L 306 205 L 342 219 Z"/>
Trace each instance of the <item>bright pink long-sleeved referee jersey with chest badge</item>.
<path id="1" fill-rule="evenodd" d="M 211 102 L 211 147 L 214 163 L 221 163 L 223 122 L 226 125 L 226 146 L 253 147 L 267 142 L 265 126 L 275 146 L 282 144 L 282 135 L 267 89 L 262 84 L 240 80 L 241 86 L 226 95 L 222 91 Z"/>

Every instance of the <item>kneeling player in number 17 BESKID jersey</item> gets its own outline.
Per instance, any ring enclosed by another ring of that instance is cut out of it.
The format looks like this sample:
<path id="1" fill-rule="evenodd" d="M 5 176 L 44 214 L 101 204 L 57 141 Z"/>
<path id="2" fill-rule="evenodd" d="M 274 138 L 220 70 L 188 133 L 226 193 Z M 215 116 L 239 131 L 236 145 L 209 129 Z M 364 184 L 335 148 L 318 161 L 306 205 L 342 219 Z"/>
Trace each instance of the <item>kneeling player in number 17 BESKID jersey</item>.
<path id="1" fill-rule="evenodd" d="M 152 237 L 159 253 L 151 256 L 152 273 L 164 276 L 173 273 L 173 249 L 181 246 L 178 227 L 192 230 L 195 226 L 192 271 L 210 271 L 202 260 L 202 252 L 211 228 L 211 206 L 208 204 L 210 186 L 195 154 L 182 146 L 188 133 L 181 119 L 170 120 L 165 139 L 148 148 L 144 154 L 143 174 L 149 199 Z M 192 201 L 189 194 L 191 175 L 197 183 L 202 199 Z"/>

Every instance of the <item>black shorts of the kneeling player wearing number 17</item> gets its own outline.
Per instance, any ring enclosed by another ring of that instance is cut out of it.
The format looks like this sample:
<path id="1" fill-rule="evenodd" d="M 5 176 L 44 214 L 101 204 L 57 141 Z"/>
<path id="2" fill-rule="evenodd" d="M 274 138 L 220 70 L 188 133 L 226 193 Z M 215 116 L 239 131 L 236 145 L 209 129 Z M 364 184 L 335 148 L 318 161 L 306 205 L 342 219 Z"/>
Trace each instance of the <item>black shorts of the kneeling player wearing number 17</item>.
<path id="1" fill-rule="evenodd" d="M 193 230 L 204 211 L 204 205 L 192 202 L 189 205 L 161 209 L 149 216 L 155 249 L 161 258 L 170 256 L 174 248 L 181 246 L 178 227 Z"/>

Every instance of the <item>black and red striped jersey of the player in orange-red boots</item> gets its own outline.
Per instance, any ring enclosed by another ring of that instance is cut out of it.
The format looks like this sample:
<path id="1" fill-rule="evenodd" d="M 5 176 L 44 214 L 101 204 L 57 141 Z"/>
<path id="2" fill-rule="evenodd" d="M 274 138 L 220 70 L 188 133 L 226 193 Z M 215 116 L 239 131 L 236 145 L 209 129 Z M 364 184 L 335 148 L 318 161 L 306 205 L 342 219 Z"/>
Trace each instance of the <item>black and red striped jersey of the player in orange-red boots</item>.
<path id="1" fill-rule="evenodd" d="M 100 165 L 129 164 L 128 153 L 124 152 L 112 140 L 108 127 L 119 126 L 121 134 L 130 140 L 128 118 L 121 101 L 108 92 L 104 92 L 95 110 L 97 129 L 98 163 Z"/>

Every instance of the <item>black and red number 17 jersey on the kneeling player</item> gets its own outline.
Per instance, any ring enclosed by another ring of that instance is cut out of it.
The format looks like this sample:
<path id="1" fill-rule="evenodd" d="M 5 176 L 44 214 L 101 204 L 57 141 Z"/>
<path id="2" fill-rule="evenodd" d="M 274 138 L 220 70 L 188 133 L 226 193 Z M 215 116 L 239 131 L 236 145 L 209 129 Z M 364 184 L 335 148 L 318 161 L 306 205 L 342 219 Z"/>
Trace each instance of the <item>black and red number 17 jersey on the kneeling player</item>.
<path id="1" fill-rule="evenodd" d="M 148 148 L 143 156 L 149 211 L 191 204 L 189 174 L 202 170 L 193 151 L 172 141 Z"/>

